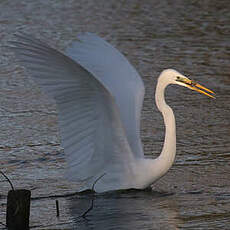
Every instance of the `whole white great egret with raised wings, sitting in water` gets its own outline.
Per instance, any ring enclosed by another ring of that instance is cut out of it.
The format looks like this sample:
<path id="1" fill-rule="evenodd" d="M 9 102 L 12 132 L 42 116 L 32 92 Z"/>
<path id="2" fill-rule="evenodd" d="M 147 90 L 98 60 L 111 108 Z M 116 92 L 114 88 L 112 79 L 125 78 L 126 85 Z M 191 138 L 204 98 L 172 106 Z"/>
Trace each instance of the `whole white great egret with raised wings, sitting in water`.
<path id="1" fill-rule="evenodd" d="M 164 146 L 158 158 L 146 159 L 139 134 L 144 84 L 117 49 L 91 33 L 79 35 L 66 55 L 32 36 L 16 37 L 11 49 L 56 100 L 67 178 L 81 181 L 80 190 L 90 189 L 102 175 L 96 192 L 144 189 L 170 169 L 176 154 L 176 126 L 164 98 L 167 85 L 214 97 L 211 90 L 179 72 L 164 70 L 155 93 L 166 127 Z"/>

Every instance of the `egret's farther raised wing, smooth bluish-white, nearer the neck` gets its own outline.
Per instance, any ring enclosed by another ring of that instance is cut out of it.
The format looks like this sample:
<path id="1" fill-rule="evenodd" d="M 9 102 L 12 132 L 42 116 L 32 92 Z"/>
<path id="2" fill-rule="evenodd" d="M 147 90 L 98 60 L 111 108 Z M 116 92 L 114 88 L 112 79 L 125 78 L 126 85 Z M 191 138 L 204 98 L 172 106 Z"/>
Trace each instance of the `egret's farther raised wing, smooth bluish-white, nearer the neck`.
<path id="1" fill-rule="evenodd" d="M 128 142 L 137 157 L 143 157 L 140 117 L 144 84 L 128 60 L 95 34 L 80 34 L 66 50 L 68 56 L 92 73 L 114 96 Z"/>

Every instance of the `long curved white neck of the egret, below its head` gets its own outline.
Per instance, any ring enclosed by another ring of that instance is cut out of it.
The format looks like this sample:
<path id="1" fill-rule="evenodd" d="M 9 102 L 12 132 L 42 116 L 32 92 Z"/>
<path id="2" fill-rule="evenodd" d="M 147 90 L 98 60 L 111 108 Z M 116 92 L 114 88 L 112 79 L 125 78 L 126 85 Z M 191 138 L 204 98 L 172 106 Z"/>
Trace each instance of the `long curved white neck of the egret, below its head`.
<path id="1" fill-rule="evenodd" d="M 172 166 L 176 155 L 176 125 L 172 109 L 166 104 L 164 91 L 169 83 L 162 77 L 159 78 L 155 99 L 157 108 L 163 115 L 165 124 L 165 140 L 160 156 L 156 159 L 158 178 L 162 177 Z M 156 168 L 154 169 L 154 171 Z M 155 171 L 156 172 L 156 171 Z"/>

